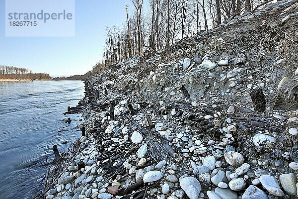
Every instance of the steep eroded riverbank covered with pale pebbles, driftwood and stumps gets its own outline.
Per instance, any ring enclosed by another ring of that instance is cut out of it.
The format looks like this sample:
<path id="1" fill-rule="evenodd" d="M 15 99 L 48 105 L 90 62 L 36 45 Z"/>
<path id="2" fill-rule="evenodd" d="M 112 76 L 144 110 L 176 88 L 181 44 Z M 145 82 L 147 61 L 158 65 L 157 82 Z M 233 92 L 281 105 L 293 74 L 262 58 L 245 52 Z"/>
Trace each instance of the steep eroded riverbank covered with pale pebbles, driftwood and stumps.
<path id="1" fill-rule="evenodd" d="M 85 134 L 49 170 L 47 199 L 297 198 L 298 46 L 283 59 L 278 36 L 297 27 L 295 2 L 89 78 Z"/>

